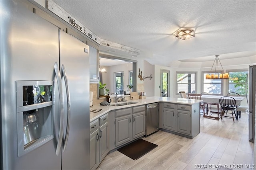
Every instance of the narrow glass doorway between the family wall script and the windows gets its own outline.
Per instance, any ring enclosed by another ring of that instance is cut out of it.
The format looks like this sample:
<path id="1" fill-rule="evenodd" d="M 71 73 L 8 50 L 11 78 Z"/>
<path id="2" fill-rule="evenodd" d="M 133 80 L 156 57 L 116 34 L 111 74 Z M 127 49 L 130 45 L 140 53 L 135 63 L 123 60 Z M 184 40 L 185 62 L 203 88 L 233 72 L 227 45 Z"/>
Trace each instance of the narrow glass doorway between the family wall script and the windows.
<path id="1" fill-rule="evenodd" d="M 169 80 L 170 70 L 161 69 L 161 85 L 160 85 L 160 96 L 169 97 Z"/>

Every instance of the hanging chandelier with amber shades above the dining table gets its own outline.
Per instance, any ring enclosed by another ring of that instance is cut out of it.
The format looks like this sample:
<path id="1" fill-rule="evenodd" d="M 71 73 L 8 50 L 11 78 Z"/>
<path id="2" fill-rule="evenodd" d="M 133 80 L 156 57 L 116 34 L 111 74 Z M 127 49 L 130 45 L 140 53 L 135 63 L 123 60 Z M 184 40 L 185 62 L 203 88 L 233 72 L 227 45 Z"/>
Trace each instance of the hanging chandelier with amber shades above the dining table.
<path id="1" fill-rule="evenodd" d="M 222 70 L 218 68 L 221 66 Z M 224 73 L 224 69 L 220 63 L 219 55 L 215 55 L 215 60 L 212 64 L 212 69 L 209 74 L 206 74 L 206 79 L 229 79 L 229 74 Z"/>

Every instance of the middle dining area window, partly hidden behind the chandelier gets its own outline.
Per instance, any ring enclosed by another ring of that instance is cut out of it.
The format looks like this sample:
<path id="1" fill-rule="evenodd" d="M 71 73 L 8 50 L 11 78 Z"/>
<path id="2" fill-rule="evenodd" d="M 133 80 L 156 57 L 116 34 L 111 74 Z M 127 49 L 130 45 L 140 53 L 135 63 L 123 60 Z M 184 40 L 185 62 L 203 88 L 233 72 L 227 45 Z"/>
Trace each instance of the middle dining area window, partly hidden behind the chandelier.
<path id="1" fill-rule="evenodd" d="M 220 72 L 222 74 L 222 72 Z M 209 74 L 209 72 L 202 72 L 202 92 L 208 93 L 208 94 L 222 94 L 222 80 L 220 79 L 206 79 L 206 74 Z"/>

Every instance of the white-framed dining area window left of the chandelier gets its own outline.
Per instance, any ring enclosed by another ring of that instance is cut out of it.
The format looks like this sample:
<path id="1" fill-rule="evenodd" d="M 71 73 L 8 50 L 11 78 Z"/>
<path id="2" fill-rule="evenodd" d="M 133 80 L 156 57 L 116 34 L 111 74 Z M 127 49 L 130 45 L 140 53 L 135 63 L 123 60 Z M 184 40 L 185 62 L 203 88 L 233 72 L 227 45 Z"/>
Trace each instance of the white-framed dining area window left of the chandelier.
<path id="1" fill-rule="evenodd" d="M 196 93 L 196 72 L 176 72 L 176 94 Z"/>

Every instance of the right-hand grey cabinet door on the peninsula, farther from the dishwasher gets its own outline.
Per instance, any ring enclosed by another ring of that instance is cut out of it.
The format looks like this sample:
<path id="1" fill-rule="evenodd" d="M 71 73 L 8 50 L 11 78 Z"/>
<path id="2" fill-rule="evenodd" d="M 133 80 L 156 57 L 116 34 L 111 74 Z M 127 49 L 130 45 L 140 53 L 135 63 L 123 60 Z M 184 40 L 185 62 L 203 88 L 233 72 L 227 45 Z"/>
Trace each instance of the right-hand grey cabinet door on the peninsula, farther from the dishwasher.
<path id="1" fill-rule="evenodd" d="M 178 127 L 177 131 L 179 133 L 184 133 L 187 135 L 190 135 L 191 133 L 191 127 L 190 127 L 190 115 L 191 113 L 189 111 L 179 111 L 178 110 Z"/>

